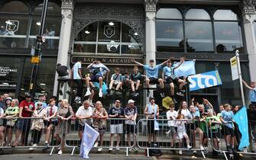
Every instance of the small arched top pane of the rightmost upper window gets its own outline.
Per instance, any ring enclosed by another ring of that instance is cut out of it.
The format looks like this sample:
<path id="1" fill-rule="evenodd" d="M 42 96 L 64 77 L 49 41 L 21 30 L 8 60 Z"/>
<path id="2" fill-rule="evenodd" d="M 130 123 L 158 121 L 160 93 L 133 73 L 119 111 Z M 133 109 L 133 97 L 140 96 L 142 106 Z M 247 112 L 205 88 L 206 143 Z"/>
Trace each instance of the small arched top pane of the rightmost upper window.
<path id="1" fill-rule="evenodd" d="M 218 10 L 213 15 L 214 20 L 238 20 L 237 14 L 231 10 Z"/>

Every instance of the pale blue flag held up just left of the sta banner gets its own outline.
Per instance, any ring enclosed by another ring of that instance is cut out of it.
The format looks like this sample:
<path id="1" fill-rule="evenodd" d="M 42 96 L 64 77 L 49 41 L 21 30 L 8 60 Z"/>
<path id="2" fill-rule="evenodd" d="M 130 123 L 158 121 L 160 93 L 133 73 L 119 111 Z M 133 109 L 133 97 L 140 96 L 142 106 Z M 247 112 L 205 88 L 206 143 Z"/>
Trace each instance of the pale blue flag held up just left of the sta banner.
<path id="1" fill-rule="evenodd" d="M 173 67 L 176 67 L 180 64 L 180 62 L 175 62 L 173 64 Z M 189 75 L 195 75 L 196 69 L 195 69 L 195 61 L 184 61 L 181 66 L 177 69 L 174 69 L 174 75 L 181 77 L 181 76 L 189 76 Z"/>

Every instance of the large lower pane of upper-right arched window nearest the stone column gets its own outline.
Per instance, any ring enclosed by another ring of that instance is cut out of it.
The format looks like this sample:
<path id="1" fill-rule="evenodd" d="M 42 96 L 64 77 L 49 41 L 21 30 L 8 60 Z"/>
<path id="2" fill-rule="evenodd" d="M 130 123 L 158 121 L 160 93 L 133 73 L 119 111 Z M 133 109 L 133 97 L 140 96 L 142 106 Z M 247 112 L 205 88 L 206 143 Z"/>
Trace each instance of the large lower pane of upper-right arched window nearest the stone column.
<path id="1" fill-rule="evenodd" d="M 157 20 L 157 51 L 184 52 L 183 21 Z"/>

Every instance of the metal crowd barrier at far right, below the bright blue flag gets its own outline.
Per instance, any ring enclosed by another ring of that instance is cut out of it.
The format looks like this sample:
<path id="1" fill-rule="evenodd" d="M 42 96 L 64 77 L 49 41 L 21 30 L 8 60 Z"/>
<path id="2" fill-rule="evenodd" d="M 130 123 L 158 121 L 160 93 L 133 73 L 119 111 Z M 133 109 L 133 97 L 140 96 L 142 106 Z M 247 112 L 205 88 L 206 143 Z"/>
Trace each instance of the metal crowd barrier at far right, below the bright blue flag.
<path id="1" fill-rule="evenodd" d="M 218 125 L 219 127 L 217 128 L 217 133 L 215 132 L 215 130 L 212 130 L 212 128 L 209 127 L 209 138 L 212 145 L 212 152 L 222 153 L 225 156 L 226 160 L 228 160 L 229 158 L 234 159 L 235 154 L 240 154 L 239 156 L 242 156 L 244 154 L 256 155 L 256 143 L 254 139 L 256 136 L 256 122 L 248 122 L 248 135 L 250 140 L 250 146 L 244 148 L 243 151 L 238 150 L 238 146 L 241 141 L 241 133 L 238 130 L 238 126 L 233 122 L 228 123 L 232 123 L 232 132 L 234 133 L 234 149 L 228 149 L 226 136 L 230 131 L 226 129 L 225 124 L 221 123 Z"/>

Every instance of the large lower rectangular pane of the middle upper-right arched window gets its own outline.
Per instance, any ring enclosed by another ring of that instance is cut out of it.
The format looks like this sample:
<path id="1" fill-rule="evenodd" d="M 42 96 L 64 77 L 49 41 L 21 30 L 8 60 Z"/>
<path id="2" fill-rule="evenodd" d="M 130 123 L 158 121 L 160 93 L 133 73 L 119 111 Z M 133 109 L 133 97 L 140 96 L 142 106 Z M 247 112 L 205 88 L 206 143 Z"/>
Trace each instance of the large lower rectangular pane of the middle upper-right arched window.
<path id="1" fill-rule="evenodd" d="M 186 21 L 187 52 L 213 52 L 212 24 L 208 21 Z"/>

